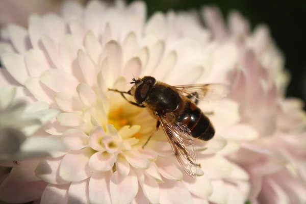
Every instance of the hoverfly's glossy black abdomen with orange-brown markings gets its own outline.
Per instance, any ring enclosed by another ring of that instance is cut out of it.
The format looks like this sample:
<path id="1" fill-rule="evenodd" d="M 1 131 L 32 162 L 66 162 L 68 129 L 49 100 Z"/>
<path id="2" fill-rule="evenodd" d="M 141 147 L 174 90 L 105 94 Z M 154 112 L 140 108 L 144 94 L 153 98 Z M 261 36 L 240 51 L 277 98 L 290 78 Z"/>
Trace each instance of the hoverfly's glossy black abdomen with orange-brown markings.
<path id="1" fill-rule="evenodd" d="M 186 124 L 194 138 L 210 140 L 215 135 L 215 129 L 208 117 L 191 101 L 186 102 L 183 113 L 176 121 Z"/>

